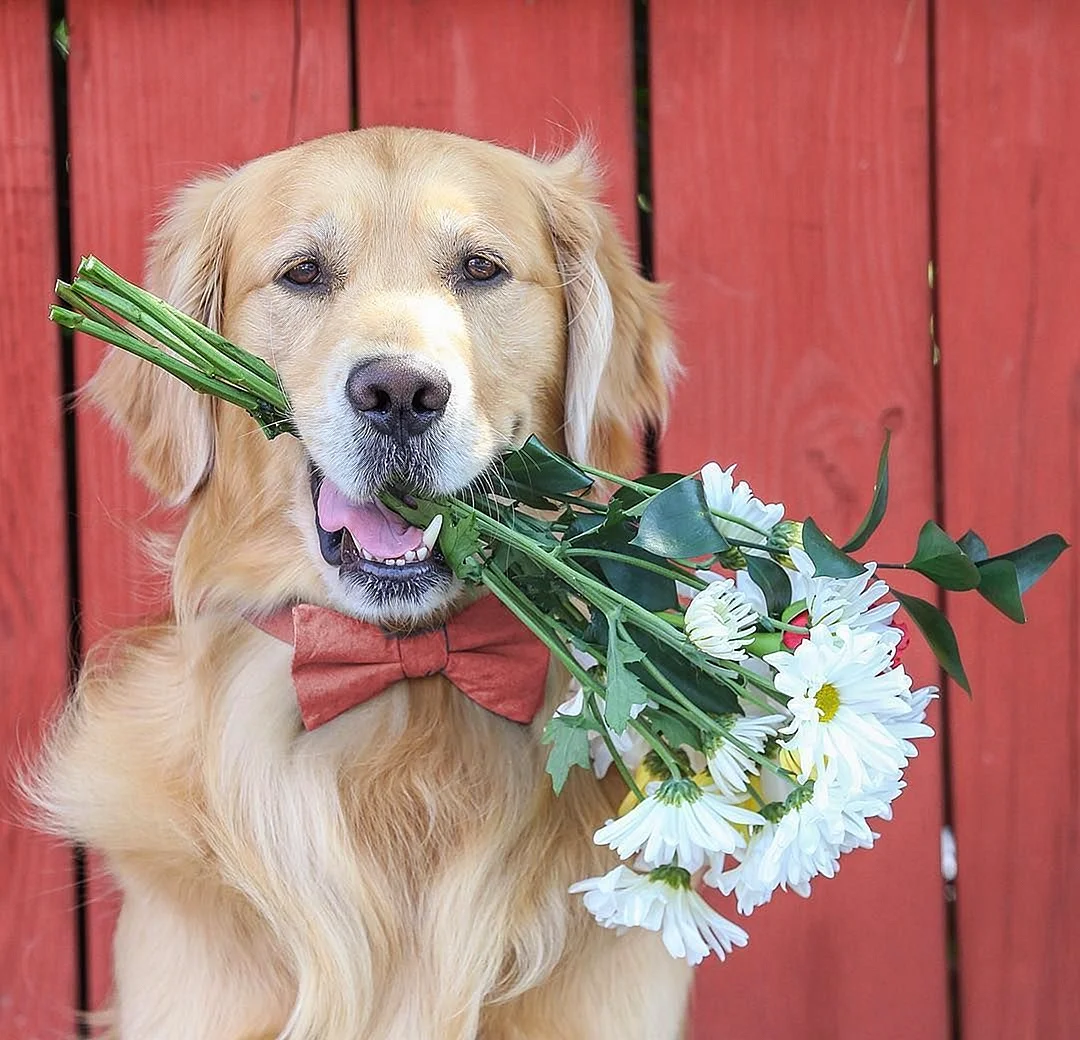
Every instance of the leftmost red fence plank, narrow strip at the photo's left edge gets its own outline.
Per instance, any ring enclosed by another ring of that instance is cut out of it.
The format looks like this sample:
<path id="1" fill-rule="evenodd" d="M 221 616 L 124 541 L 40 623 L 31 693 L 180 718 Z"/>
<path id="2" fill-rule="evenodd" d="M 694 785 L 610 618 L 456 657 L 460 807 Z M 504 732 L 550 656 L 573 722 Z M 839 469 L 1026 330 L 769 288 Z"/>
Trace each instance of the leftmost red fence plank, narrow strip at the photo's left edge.
<path id="1" fill-rule="evenodd" d="M 67 686 L 67 516 L 48 4 L 0 2 L 0 1036 L 75 1022 L 71 854 L 33 834 L 12 782 Z"/>

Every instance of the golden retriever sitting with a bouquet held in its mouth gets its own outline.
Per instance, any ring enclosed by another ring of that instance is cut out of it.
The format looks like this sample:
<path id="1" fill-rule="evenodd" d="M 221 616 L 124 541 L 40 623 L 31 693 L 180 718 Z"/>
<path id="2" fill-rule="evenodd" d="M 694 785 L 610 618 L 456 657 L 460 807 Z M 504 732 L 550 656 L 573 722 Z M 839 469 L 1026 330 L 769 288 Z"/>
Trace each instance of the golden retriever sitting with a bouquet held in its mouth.
<path id="1" fill-rule="evenodd" d="M 680 1035 L 685 962 L 567 892 L 615 865 L 592 835 L 619 795 L 585 770 L 552 792 L 561 667 L 531 724 L 424 675 L 308 731 L 292 648 L 253 622 L 309 604 L 408 633 L 471 602 L 415 532 L 391 558 L 332 529 L 392 526 L 391 481 L 451 494 L 529 434 L 638 469 L 673 352 L 597 191 L 585 146 L 376 127 L 173 201 L 149 287 L 270 362 L 298 436 L 119 351 L 89 390 L 186 510 L 171 616 L 89 656 L 35 791 L 121 891 L 111 1036 Z"/>

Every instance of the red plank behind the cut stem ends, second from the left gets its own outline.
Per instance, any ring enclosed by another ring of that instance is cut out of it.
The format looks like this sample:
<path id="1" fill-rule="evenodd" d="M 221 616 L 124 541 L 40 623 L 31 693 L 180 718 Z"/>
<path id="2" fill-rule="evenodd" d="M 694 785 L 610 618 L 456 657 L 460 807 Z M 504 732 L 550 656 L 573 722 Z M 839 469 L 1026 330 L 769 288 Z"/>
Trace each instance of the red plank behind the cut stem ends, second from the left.
<path id="1" fill-rule="evenodd" d="M 194 174 L 349 126 L 346 0 L 69 0 L 73 247 L 138 275 L 167 197 Z M 78 346 L 79 372 L 100 356 Z M 78 430 L 84 630 L 98 638 L 160 607 L 140 551 L 147 496 L 119 438 L 83 410 Z M 92 989 L 107 990 L 109 922 L 92 919 Z"/>

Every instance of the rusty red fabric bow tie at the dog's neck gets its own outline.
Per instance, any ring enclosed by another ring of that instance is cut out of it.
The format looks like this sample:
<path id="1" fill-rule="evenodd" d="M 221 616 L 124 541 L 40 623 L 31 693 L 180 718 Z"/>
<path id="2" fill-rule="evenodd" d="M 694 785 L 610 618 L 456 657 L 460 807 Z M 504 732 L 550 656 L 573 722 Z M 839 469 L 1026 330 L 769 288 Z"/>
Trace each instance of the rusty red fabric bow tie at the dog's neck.
<path id="1" fill-rule="evenodd" d="M 310 604 L 255 624 L 293 644 L 305 729 L 401 679 L 438 672 L 481 707 L 515 722 L 531 722 L 543 703 L 548 648 L 495 596 L 483 596 L 441 629 L 410 636 L 390 636 L 378 625 Z"/>

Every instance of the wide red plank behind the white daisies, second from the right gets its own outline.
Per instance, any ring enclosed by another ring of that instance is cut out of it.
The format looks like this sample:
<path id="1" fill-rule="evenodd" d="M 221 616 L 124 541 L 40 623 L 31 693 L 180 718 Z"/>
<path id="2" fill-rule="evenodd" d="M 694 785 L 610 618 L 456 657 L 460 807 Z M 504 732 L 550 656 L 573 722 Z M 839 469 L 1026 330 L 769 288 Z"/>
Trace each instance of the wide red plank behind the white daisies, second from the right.
<path id="1" fill-rule="evenodd" d="M 661 464 L 738 460 L 845 535 L 891 427 L 870 548 L 906 558 L 934 508 L 926 4 L 649 9 L 656 268 L 687 367 Z M 936 678 L 928 654 L 906 663 Z M 935 746 L 908 782 L 872 853 L 809 902 L 779 895 L 747 949 L 702 969 L 699 1040 L 947 1035 Z"/>

